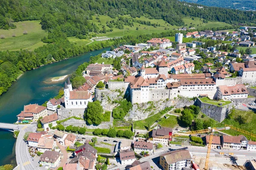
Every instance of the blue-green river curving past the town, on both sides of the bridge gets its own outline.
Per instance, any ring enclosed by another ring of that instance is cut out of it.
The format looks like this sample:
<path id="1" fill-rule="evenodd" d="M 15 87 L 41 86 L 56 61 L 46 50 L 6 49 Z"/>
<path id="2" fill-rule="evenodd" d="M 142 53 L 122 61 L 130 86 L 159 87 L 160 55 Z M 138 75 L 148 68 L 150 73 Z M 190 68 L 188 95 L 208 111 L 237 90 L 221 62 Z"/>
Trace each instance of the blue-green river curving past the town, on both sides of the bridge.
<path id="1" fill-rule="evenodd" d="M 104 50 L 87 52 L 64 61 L 52 63 L 34 69 L 24 74 L 12 84 L 6 93 L 0 96 L 0 122 L 14 123 L 17 121 L 16 115 L 23 110 L 27 104 L 43 104 L 49 98 L 58 95 L 58 90 L 64 86 L 64 80 L 52 83 L 52 77 L 71 74 L 82 63 L 89 61 L 90 56 L 98 55 Z M 13 133 L 0 130 L 0 165 L 13 164 L 15 160 L 16 139 Z"/>

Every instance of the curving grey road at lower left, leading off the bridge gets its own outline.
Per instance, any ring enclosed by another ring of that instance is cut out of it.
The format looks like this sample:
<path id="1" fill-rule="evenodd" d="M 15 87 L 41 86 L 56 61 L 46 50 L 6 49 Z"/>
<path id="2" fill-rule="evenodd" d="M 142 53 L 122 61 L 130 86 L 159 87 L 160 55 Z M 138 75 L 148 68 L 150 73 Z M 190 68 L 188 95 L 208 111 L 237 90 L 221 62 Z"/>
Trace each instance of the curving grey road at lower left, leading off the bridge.
<path id="1" fill-rule="evenodd" d="M 20 165 L 20 170 L 42 170 L 42 167 L 39 169 L 38 162 L 32 161 L 32 157 L 29 155 L 28 146 L 23 140 L 23 136 L 26 132 L 36 131 L 36 124 L 19 125 L 18 128 L 20 133 L 15 147 L 17 165 Z"/>

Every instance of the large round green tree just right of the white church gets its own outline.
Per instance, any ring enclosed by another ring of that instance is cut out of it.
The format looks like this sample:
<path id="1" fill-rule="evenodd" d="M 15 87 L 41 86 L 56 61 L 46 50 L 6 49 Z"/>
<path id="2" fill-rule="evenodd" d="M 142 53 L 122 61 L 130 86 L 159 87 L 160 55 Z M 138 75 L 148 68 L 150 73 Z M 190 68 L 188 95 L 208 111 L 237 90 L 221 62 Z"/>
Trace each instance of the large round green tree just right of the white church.
<path id="1" fill-rule="evenodd" d="M 87 110 L 85 118 L 88 124 L 99 125 L 103 121 L 103 109 L 99 101 L 89 102 L 87 104 Z"/>

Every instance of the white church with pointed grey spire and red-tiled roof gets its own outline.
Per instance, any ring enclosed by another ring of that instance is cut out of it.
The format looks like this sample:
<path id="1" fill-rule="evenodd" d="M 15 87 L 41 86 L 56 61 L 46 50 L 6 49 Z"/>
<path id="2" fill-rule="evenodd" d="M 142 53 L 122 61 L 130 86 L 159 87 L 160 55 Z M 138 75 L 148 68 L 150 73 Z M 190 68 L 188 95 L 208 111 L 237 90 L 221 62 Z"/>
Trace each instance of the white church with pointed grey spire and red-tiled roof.
<path id="1" fill-rule="evenodd" d="M 85 109 L 88 102 L 92 102 L 92 94 L 88 91 L 76 91 L 68 78 L 64 86 L 64 101 L 66 109 Z"/>

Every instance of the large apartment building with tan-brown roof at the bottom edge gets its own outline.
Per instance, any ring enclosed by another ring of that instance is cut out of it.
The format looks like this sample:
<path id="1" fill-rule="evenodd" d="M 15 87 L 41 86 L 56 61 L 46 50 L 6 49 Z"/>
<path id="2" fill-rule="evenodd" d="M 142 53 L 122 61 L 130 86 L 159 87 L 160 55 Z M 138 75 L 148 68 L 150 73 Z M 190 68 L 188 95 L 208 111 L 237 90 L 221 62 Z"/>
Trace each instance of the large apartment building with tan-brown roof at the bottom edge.
<path id="1" fill-rule="evenodd" d="M 160 155 L 160 166 L 163 170 L 181 170 L 190 167 L 192 156 L 188 150 L 174 150 Z"/>

